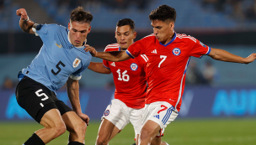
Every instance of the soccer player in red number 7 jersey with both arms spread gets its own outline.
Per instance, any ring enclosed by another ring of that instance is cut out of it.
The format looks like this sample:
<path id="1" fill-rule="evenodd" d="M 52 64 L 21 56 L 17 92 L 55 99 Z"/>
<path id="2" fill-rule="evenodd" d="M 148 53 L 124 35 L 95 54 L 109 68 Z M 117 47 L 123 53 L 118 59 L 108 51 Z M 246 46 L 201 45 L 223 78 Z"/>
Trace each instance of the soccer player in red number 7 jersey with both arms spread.
<path id="1" fill-rule="evenodd" d="M 139 144 L 146 145 L 178 116 L 184 92 L 184 83 L 190 56 L 209 55 L 214 60 L 248 64 L 256 54 L 242 58 L 223 49 L 214 49 L 186 34 L 177 34 L 173 28 L 176 11 L 167 5 L 159 6 L 149 15 L 153 33 L 136 41 L 126 51 L 97 52 L 93 47 L 85 50 L 93 56 L 123 61 L 146 54 L 147 96 L 143 113 Z"/>

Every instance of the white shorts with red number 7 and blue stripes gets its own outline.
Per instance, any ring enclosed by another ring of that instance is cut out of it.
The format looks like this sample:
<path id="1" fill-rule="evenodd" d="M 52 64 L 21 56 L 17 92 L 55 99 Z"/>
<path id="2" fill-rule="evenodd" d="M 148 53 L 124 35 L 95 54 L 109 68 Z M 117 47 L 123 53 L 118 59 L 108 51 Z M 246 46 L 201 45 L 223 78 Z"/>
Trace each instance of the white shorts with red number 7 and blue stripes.
<path id="1" fill-rule="evenodd" d="M 178 111 L 166 101 L 156 101 L 151 104 L 146 104 L 145 112 L 142 117 L 142 125 L 148 120 L 156 122 L 161 127 L 161 130 L 157 137 L 162 137 L 164 129 L 170 122 L 178 116 Z"/>

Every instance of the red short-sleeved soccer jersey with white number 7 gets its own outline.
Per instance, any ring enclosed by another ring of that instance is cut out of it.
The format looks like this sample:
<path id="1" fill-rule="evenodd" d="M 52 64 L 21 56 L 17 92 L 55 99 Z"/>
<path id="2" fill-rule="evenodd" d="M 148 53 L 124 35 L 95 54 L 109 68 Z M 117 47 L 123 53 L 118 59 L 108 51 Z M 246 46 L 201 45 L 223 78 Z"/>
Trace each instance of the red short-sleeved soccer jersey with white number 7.
<path id="1" fill-rule="evenodd" d="M 180 110 L 184 92 L 185 75 L 190 56 L 210 54 L 211 48 L 186 34 L 174 34 L 168 44 L 161 44 L 154 34 L 136 41 L 126 53 L 135 58 L 146 54 L 147 96 L 146 104 L 167 101 Z"/>

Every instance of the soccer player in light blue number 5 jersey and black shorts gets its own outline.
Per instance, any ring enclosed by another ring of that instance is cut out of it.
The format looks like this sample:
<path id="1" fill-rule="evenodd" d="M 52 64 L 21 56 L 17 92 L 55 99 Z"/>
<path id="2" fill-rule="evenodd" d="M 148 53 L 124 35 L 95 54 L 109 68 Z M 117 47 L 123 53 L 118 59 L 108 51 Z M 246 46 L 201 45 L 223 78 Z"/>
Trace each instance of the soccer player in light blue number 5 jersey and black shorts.
<path id="1" fill-rule="evenodd" d="M 68 28 L 31 21 L 24 8 L 17 10 L 24 32 L 40 36 L 43 46 L 31 64 L 19 73 L 16 97 L 19 106 L 44 128 L 36 131 L 24 145 L 44 145 L 69 132 L 68 145 L 83 145 L 89 117 L 79 102 L 78 80 L 92 55 L 84 44 L 91 30 L 93 15 L 78 7 L 70 14 Z M 72 109 L 56 97 L 56 90 L 67 82 Z"/>

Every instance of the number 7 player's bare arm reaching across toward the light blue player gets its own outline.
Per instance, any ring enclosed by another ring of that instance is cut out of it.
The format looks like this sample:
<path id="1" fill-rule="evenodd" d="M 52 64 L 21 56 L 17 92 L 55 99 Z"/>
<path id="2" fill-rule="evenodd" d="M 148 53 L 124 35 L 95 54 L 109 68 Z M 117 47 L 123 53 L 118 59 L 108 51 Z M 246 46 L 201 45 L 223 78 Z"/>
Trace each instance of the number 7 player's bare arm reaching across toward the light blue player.
<path id="1" fill-rule="evenodd" d="M 118 61 L 125 61 L 131 59 L 131 57 L 126 54 L 125 51 L 108 51 L 108 52 L 97 52 L 92 46 L 84 45 L 85 51 L 90 52 L 93 57 L 98 57 L 103 60 L 118 62 Z"/>

